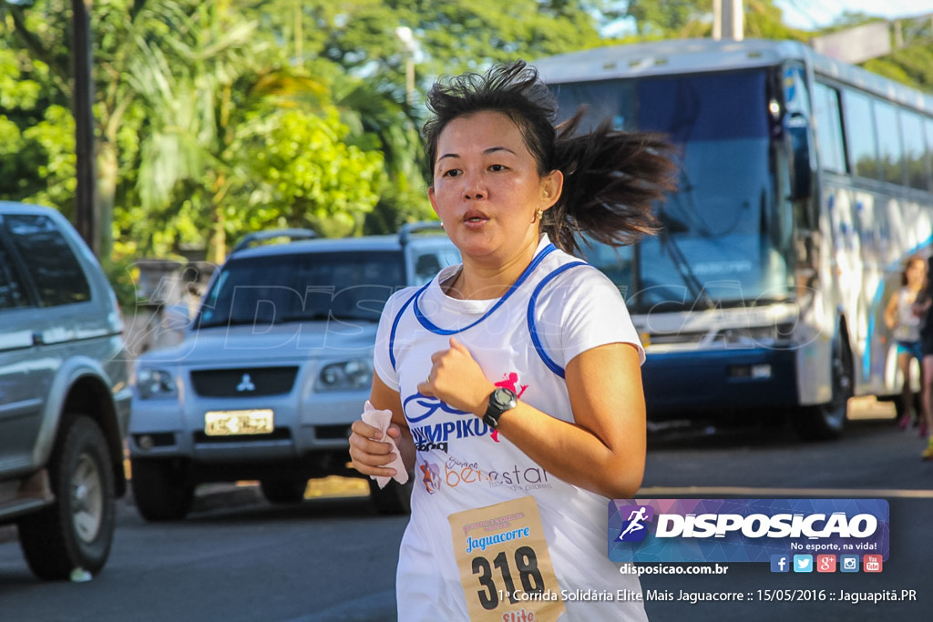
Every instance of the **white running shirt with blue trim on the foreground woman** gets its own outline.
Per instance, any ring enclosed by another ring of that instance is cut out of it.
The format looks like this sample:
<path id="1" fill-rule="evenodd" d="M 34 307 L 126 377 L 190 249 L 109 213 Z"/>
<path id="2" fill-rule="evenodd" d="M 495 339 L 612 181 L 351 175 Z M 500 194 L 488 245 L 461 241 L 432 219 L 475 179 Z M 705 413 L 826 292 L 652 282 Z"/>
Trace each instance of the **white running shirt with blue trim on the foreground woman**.
<path id="1" fill-rule="evenodd" d="M 619 564 L 607 557 L 608 500 L 550 475 L 472 413 L 417 390 L 431 369 L 431 354 L 449 348 L 453 335 L 488 379 L 572 422 L 563 376 L 568 361 L 622 342 L 633 344 L 644 362 L 618 288 L 598 270 L 554 249 L 547 237 L 502 298 L 448 297 L 439 283 L 457 270 L 442 270 L 425 287 L 391 297 L 376 343 L 376 373 L 398 391 L 418 449 L 411 520 L 398 556 L 399 622 L 467 620 L 448 517 L 529 495 L 538 505 L 561 589 L 613 596 L 623 590 L 630 597 L 565 601 L 562 620 L 647 620 L 642 602 L 631 598 L 641 593 L 637 577 L 620 574 Z"/>

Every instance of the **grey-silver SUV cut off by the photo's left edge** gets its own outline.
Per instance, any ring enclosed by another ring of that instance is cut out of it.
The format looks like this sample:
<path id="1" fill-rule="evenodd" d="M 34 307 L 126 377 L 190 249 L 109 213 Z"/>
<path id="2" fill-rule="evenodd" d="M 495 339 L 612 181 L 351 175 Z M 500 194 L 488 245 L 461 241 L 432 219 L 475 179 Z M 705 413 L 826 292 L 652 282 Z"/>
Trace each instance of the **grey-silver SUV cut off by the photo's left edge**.
<path id="1" fill-rule="evenodd" d="M 43 579 L 97 573 L 126 491 L 123 320 L 55 210 L 0 202 L 0 525 Z"/>

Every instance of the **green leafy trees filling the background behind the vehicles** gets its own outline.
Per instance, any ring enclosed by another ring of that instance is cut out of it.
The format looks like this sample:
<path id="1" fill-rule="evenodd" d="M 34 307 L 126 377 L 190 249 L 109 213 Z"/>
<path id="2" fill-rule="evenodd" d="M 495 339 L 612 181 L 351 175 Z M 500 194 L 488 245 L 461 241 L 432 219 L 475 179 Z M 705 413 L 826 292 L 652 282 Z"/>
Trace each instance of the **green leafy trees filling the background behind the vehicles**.
<path id="1" fill-rule="evenodd" d="M 70 6 L 0 0 L 0 198 L 69 215 Z M 217 260 L 228 238 L 258 228 L 347 235 L 430 218 L 418 103 L 436 76 L 618 43 L 601 33 L 621 21 L 635 24 L 623 40 L 708 36 L 711 10 L 712 0 L 95 0 L 98 195 L 113 238 L 102 249 L 117 264 L 191 249 Z M 746 35 L 814 35 L 781 17 L 773 0 L 747 0 Z M 846 14 L 829 30 L 868 19 Z M 931 39 L 865 66 L 930 90 Z"/>

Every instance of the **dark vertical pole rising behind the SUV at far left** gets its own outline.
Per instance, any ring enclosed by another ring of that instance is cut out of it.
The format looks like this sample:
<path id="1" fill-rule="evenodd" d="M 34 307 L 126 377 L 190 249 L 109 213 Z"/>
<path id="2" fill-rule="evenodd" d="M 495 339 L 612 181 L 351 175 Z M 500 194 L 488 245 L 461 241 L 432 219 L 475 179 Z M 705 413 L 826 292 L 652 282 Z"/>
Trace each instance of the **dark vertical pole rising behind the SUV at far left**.
<path id="1" fill-rule="evenodd" d="M 97 167 L 94 149 L 94 82 L 91 76 L 91 0 L 71 0 L 72 59 L 75 75 L 73 114 L 75 115 L 75 152 L 77 156 L 77 191 L 75 227 L 91 251 L 100 253 L 97 235 Z"/>

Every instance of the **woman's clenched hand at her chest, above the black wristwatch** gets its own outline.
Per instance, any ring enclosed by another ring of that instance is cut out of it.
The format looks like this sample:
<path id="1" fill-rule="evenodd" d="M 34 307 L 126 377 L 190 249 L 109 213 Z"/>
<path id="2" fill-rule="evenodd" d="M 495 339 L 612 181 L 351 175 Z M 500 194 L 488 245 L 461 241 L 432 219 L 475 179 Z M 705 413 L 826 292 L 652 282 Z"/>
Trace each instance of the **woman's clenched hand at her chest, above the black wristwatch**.
<path id="1" fill-rule="evenodd" d="M 469 350 L 451 338 L 448 350 L 431 355 L 431 371 L 418 385 L 418 392 L 426 397 L 437 397 L 448 406 L 472 412 L 481 417 L 486 412 L 489 394 L 495 385 L 480 369 Z"/>

